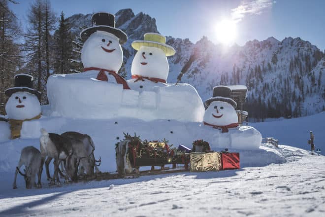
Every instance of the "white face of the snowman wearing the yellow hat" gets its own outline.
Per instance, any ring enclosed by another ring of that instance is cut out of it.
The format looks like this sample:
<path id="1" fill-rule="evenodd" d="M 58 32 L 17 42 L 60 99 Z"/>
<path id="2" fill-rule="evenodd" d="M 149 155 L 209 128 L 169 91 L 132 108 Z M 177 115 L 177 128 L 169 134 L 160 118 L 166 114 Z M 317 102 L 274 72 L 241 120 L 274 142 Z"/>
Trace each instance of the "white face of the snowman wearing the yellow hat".
<path id="1" fill-rule="evenodd" d="M 132 61 L 131 74 L 166 80 L 168 71 L 169 65 L 166 55 L 156 47 L 142 46 Z"/>

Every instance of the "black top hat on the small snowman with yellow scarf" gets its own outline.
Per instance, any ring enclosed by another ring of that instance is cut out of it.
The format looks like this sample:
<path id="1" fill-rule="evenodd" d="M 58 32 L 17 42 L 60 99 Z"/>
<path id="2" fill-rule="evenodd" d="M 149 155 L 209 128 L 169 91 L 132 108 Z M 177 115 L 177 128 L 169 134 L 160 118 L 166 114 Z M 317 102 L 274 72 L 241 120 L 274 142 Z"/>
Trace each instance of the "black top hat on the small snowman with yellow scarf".
<path id="1" fill-rule="evenodd" d="M 32 87 L 33 76 L 30 74 L 16 74 L 14 76 L 15 87 L 8 88 L 4 91 L 4 94 L 7 97 L 10 97 L 13 93 L 16 92 L 29 92 L 37 96 L 40 100 L 41 93 L 37 90 L 34 90 Z"/>

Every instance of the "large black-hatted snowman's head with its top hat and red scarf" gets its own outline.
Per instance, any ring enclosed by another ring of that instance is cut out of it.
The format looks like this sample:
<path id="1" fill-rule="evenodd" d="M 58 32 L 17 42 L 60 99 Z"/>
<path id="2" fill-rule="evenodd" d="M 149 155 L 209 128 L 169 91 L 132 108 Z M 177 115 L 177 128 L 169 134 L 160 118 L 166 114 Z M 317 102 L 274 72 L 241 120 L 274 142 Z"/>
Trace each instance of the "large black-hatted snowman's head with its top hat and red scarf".
<path id="1" fill-rule="evenodd" d="M 115 16 L 99 12 L 92 16 L 93 26 L 80 33 L 84 45 L 81 61 L 84 72 L 94 74 L 98 80 L 123 84 L 123 89 L 130 89 L 126 80 L 118 74 L 123 62 L 124 44 L 128 36 L 115 28 Z"/>

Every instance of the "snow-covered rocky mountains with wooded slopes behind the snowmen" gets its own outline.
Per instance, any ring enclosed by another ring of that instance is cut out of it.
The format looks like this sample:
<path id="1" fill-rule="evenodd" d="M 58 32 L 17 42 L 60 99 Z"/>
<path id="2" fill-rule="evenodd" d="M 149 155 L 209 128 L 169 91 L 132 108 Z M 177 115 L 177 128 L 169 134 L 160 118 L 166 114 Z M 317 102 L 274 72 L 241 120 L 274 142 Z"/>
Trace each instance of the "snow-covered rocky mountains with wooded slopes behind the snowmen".
<path id="1" fill-rule="evenodd" d="M 133 40 L 143 39 L 147 32 L 159 32 L 155 18 L 142 12 L 134 15 L 131 9 L 119 10 L 116 26 L 127 33 L 123 45 L 125 62 L 122 74 L 130 78 L 135 50 Z M 68 18 L 72 32 L 91 26 L 91 14 L 75 14 Z M 286 37 L 282 41 L 248 41 L 244 46 L 225 47 L 203 36 L 196 43 L 188 38 L 167 36 L 167 44 L 176 54 L 170 57 L 168 82 L 177 75 L 196 49 L 198 58 L 182 78 L 197 89 L 202 100 L 212 96 L 216 85 L 244 84 L 248 87 L 245 109 L 252 120 L 266 117 L 297 117 L 325 110 L 325 54 L 309 41 Z M 253 119 L 254 118 L 254 119 Z"/>

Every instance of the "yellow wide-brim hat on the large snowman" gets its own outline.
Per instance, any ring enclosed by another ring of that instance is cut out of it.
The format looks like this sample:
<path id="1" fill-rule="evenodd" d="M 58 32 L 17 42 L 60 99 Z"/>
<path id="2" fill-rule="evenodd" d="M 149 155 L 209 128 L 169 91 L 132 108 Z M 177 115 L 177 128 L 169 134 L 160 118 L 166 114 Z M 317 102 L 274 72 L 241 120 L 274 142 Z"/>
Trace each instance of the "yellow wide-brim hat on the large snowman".
<path id="1" fill-rule="evenodd" d="M 135 40 L 132 42 L 131 46 L 135 50 L 140 50 L 142 46 L 147 47 L 157 47 L 161 49 L 165 55 L 172 56 L 175 54 L 175 49 L 166 44 L 166 37 L 158 33 L 146 33 L 144 34 L 144 40 Z"/>

